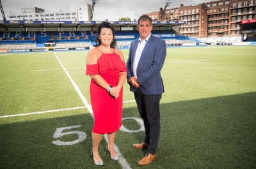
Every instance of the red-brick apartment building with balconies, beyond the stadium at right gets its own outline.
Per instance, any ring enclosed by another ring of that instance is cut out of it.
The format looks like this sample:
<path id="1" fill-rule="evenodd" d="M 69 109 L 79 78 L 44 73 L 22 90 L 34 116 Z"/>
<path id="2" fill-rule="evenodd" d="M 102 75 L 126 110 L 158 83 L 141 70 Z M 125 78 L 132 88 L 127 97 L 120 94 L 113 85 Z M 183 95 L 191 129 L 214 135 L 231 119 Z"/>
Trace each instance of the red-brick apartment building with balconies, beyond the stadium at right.
<path id="1" fill-rule="evenodd" d="M 163 11 L 161 11 L 163 13 Z M 239 35 L 240 20 L 256 18 L 256 0 L 220 0 L 166 9 L 166 20 L 186 20 L 180 27 L 180 35 L 202 38 Z M 145 13 L 159 20 L 159 11 Z"/>

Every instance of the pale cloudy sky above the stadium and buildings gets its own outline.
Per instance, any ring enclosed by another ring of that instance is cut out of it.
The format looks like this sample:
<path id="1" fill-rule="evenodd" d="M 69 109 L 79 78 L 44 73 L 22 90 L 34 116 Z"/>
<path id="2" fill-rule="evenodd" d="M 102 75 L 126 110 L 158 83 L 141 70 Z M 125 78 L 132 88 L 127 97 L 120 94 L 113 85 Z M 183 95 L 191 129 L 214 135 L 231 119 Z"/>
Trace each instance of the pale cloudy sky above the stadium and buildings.
<path id="1" fill-rule="evenodd" d="M 164 8 L 167 0 L 99 0 L 94 7 L 93 20 L 117 21 L 122 17 L 129 17 L 131 20 L 138 20 L 141 14 L 159 11 Z M 169 0 L 167 8 L 177 8 L 180 4 L 188 6 L 191 4 L 207 3 L 212 0 Z M 89 3 L 90 0 L 1 0 L 4 14 L 7 17 L 10 13 L 21 14 L 21 8 L 38 7 L 45 11 L 75 11 L 72 9 L 75 4 Z M 3 16 L 0 16 L 3 20 Z"/>

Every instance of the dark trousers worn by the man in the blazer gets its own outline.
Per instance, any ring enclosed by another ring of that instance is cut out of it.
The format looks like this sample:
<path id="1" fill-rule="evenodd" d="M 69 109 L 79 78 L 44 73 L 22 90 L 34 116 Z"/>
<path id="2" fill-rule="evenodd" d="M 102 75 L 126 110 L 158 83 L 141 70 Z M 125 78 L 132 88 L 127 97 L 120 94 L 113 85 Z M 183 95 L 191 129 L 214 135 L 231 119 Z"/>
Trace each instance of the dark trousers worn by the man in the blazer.
<path id="1" fill-rule="evenodd" d="M 142 94 L 140 89 L 134 92 L 134 98 L 138 106 L 140 117 L 144 122 L 144 142 L 148 143 L 148 153 L 151 154 L 156 154 L 161 130 L 159 108 L 161 96 L 161 94 Z"/>

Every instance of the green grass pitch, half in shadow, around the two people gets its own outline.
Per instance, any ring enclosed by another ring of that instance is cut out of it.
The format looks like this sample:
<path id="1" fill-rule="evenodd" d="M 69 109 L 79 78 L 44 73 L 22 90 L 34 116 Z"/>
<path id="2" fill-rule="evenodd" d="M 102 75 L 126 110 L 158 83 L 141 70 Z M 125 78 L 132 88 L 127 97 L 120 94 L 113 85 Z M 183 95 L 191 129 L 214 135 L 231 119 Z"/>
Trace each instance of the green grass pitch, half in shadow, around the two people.
<path id="1" fill-rule="evenodd" d="M 122 51 L 127 60 L 129 51 Z M 255 51 L 168 48 L 157 159 L 143 168 L 255 168 Z M 84 105 L 84 99 L 90 105 L 86 54 L 0 54 L 0 168 L 99 168 L 91 157 L 93 117 Z M 102 140 L 100 168 L 141 168 L 136 163 L 146 151 L 131 145 L 144 133 L 127 84 L 123 118 L 115 141 L 122 160 L 111 160 Z"/>

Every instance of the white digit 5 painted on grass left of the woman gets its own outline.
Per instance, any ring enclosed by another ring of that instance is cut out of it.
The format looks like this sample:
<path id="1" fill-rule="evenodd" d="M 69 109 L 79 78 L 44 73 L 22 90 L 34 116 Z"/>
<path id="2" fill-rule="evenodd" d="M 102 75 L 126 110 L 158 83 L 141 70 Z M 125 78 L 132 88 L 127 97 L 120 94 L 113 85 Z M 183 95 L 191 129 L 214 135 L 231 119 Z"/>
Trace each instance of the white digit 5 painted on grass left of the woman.
<path id="1" fill-rule="evenodd" d="M 73 145 L 75 143 L 83 142 L 83 140 L 86 139 L 87 135 L 83 131 L 68 131 L 63 132 L 65 129 L 74 129 L 74 128 L 81 128 L 81 125 L 76 126 L 68 126 L 65 128 L 57 128 L 55 133 L 53 134 L 53 138 L 60 138 L 61 136 L 65 135 L 77 135 L 78 138 L 74 140 L 73 142 L 61 142 L 60 140 L 53 141 L 55 145 Z"/>

